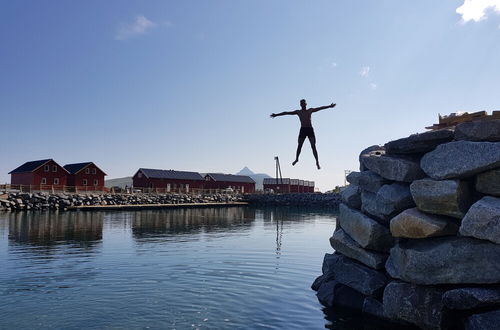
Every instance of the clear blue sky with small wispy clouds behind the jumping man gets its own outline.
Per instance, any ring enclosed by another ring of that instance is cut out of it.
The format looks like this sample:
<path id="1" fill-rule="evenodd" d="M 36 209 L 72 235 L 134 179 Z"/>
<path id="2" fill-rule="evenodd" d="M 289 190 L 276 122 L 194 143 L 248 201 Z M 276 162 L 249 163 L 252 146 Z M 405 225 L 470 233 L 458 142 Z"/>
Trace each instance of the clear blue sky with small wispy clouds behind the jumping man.
<path id="1" fill-rule="evenodd" d="M 438 114 L 500 109 L 500 0 L 0 0 L 0 182 L 30 160 L 344 184 Z M 313 115 L 321 170 L 300 123 Z"/>

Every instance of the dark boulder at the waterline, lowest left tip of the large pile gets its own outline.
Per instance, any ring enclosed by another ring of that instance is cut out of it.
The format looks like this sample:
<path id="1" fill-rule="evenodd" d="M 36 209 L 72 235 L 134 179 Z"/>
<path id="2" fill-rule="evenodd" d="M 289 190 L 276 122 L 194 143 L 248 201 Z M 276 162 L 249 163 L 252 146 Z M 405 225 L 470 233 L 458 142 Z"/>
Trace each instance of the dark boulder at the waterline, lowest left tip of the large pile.
<path id="1" fill-rule="evenodd" d="M 316 293 L 320 303 L 327 307 L 339 306 L 360 310 L 365 296 L 337 281 L 324 282 Z"/>

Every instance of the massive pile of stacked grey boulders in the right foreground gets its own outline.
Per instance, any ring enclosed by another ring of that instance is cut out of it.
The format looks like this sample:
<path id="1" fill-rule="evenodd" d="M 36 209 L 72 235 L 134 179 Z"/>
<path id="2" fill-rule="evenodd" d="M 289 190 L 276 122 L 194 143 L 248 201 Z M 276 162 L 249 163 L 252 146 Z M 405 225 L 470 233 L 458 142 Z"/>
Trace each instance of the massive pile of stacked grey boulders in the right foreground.
<path id="1" fill-rule="evenodd" d="M 500 120 L 372 146 L 312 285 L 321 303 L 422 329 L 500 328 Z"/>

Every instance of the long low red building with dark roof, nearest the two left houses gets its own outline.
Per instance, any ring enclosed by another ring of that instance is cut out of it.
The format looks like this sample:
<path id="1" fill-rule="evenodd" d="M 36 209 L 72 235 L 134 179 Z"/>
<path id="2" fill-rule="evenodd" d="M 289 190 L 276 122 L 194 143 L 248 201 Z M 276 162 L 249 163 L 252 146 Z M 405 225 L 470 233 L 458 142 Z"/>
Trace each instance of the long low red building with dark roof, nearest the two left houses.
<path id="1" fill-rule="evenodd" d="M 200 173 L 156 170 L 140 168 L 133 176 L 133 185 L 136 188 L 159 188 L 166 192 L 202 189 L 204 180 Z"/>

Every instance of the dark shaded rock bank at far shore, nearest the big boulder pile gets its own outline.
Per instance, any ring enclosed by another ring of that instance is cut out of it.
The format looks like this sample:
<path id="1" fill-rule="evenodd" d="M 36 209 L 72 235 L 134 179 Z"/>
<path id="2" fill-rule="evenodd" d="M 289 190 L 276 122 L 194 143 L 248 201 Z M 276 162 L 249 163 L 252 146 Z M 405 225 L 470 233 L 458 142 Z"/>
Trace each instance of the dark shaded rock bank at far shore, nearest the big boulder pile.
<path id="1" fill-rule="evenodd" d="M 244 201 L 260 206 L 300 206 L 337 208 L 341 197 L 336 193 L 252 194 Z"/>

